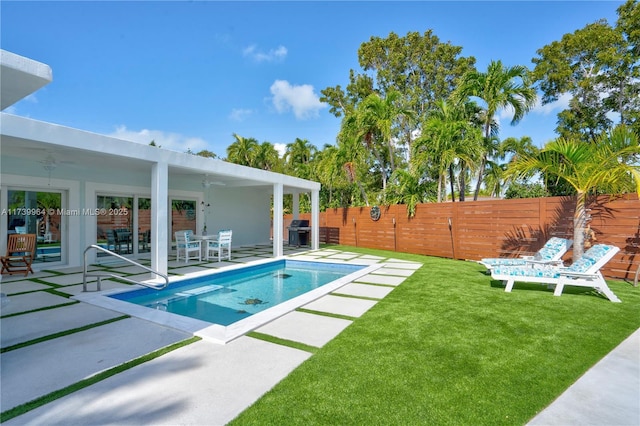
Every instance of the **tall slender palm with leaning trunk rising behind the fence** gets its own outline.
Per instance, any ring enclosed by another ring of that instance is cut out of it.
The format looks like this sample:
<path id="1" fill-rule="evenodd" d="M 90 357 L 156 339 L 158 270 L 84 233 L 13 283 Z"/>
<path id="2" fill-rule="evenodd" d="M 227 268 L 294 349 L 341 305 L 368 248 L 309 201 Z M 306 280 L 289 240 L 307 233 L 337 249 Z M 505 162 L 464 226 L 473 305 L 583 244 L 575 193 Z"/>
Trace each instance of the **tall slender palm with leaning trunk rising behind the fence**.
<path id="1" fill-rule="evenodd" d="M 485 171 L 484 166 L 488 156 L 492 155 L 492 145 L 490 145 L 492 132 L 497 133 L 497 128 L 492 126 L 493 117 L 498 110 L 510 107 L 513 110 L 511 125 L 517 124 L 535 104 L 536 92 L 531 85 L 529 70 L 526 67 L 520 65 L 505 67 L 502 61 L 491 61 L 486 73 L 467 72 L 462 76 L 456 91 L 456 96 L 460 98 L 475 96 L 486 104 L 483 129 L 487 145 L 478 169 L 478 180 L 473 196 L 473 199 L 477 200 Z"/>

